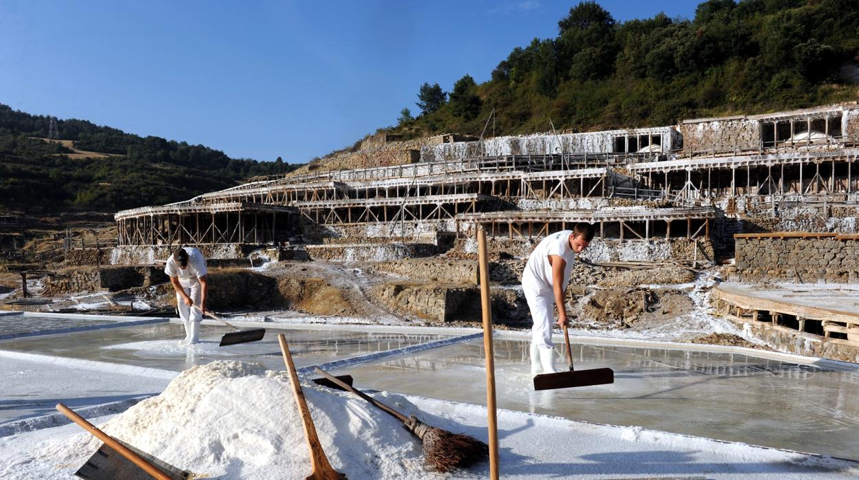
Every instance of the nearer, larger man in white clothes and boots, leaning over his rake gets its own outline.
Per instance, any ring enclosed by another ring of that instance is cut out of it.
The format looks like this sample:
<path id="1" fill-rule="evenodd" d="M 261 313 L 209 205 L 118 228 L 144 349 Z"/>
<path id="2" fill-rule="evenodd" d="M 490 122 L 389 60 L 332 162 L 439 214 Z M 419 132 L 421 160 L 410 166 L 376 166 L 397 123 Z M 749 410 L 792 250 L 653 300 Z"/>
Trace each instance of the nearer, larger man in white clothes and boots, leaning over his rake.
<path id="1" fill-rule="evenodd" d="M 564 293 L 570 282 L 570 271 L 576 254 L 588 248 L 594 238 L 594 226 L 576 223 L 572 230 L 563 230 L 541 240 L 522 272 L 522 291 L 531 310 L 531 374 L 555 372 L 554 348 L 551 342 L 552 319 L 557 305 L 557 326 L 569 325 L 564 307 Z"/>

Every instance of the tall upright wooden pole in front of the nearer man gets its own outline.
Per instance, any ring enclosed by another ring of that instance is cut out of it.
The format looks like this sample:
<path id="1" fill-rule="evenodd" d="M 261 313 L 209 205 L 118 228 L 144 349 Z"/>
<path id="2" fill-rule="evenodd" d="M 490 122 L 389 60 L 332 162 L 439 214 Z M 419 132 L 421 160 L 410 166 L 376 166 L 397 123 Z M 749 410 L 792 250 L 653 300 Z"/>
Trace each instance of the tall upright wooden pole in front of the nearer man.
<path id="1" fill-rule="evenodd" d="M 486 355 L 486 415 L 489 423 L 489 477 L 498 478 L 498 426 L 495 404 L 495 357 L 492 349 L 492 310 L 489 293 L 489 261 L 486 258 L 486 231 L 478 229 L 480 301 L 483 306 L 484 351 Z"/>

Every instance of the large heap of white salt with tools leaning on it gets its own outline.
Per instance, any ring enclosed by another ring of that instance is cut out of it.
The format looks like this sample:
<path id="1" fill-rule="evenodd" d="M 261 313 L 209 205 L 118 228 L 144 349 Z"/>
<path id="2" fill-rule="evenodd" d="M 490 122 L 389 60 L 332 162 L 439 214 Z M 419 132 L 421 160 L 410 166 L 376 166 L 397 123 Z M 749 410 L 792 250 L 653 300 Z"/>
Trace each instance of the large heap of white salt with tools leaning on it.
<path id="1" fill-rule="evenodd" d="M 332 466 L 350 478 L 423 477 L 421 447 L 392 416 L 360 398 L 304 386 Z M 411 413 L 413 405 L 390 398 Z M 143 452 L 206 477 L 304 478 L 308 447 L 289 378 L 257 364 L 212 362 L 186 370 L 157 397 L 101 425 Z M 82 461 L 100 442 L 86 434 L 39 456 Z"/>

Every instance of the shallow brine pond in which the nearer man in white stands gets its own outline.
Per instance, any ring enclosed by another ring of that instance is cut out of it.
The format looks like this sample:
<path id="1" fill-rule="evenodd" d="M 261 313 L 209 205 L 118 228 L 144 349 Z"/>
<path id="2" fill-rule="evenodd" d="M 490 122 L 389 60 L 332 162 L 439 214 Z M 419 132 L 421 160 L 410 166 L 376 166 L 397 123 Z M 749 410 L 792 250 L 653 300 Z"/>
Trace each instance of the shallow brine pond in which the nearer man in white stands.
<path id="1" fill-rule="evenodd" d="M 615 383 L 534 392 L 528 343 L 496 339 L 499 408 L 859 459 L 859 372 L 735 353 L 573 345 Z M 485 405 L 483 343 L 345 368 L 355 385 Z M 556 367 L 564 368 L 560 355 Z"/>

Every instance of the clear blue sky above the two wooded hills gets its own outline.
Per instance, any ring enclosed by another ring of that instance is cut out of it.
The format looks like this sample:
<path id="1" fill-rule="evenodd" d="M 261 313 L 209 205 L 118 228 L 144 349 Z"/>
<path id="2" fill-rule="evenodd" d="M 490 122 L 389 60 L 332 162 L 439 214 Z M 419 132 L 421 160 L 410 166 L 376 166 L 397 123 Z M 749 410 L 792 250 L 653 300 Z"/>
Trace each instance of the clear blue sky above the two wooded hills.
<path id="1" fill-rule="evenodd" d="M 486 81 L 577 3 L 0 0 L 0 103 L 303 162 L 417 112 L 423 82 Z M 618 21 L 698 4 L 599 3 Z"/>

